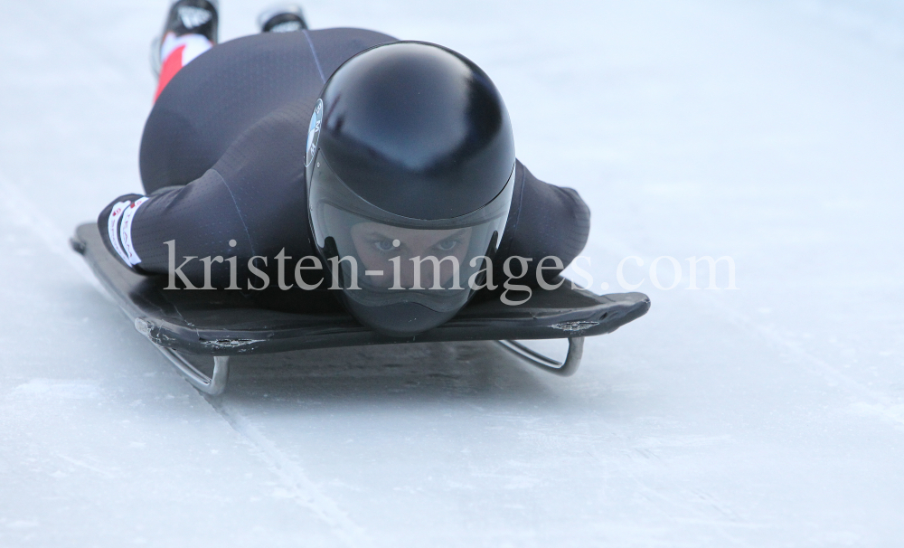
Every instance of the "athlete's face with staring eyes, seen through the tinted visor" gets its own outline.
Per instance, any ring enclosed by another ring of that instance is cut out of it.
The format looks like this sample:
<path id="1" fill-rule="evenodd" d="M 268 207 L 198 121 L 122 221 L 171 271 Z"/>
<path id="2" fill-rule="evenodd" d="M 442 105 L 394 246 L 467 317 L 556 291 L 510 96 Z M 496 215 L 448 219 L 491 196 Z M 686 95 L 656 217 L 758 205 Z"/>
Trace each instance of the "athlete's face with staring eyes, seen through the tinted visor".
<path id="1" fill-rule="evenodd" d="M 379 222 L 359 222 L 352 227 L 352 241 L 361 259 L 363 270 L 370 270 L 366 276 L 369 282 L 380 288 L 393 285 L 394 262 L 400 263 L 399 283 L 402 288 L 414 287 L 414 269 L 420 257 L 436 257 L 439 264 L 439 283 L 444 288 L 453 276 L 454 267 L 447 257 L 456 261 L 459 267 L 467 256 L 471 241 L 470 227 L 444 231 L 405 229 Z M 399 261 L 391 259 L 399 257 Z M 420 287 L 433 287 L 433 261 L 420 263 Z M 381 272 L 377 274 L 376 272 Z M 364 274 L 364 272 L 362 272 Z M 460 283 L 466 283 L 466 280 Z"/>

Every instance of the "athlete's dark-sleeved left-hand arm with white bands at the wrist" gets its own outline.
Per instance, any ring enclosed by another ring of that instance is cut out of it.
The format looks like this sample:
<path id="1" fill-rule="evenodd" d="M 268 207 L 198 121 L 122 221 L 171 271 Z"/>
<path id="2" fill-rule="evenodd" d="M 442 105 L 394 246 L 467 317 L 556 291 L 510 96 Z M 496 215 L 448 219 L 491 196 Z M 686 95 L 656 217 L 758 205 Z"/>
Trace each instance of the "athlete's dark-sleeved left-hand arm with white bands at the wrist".
<path id="1" fill-rule="evenodd" d="M 243 134 L 191 183 L 118 198 L 98 220 L 108 250 L 139 273 L 167 274 L 181 267 L 195 286 L 204 283 L 209 257 L 213 286 L 225 287 L 230 277 L 225 260 L 236 257 L 242 288 L 253 256 L 273 262 L 283 247 L 298 259 L 313 254 L 304 156 L 298 153 L 306 128 L 300 126 L 281 111 Z M 118 228 L 108 230 L 111 224 Z M 186 262 L 189 257 L 194 259 Z"/>

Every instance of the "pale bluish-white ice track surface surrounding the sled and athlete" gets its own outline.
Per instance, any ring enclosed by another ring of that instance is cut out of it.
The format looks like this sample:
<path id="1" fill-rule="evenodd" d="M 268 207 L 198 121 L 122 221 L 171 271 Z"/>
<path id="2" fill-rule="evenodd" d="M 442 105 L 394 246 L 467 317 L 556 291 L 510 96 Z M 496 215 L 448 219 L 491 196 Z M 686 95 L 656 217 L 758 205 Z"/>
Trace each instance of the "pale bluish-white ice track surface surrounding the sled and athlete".
<path id="1" fill-rule="evenodd" d="M 225 39 L 265 7 L 221 4 Z M 593 210 L 594 289 L 637 256 L 653 309 L 569 379 L 348 348 L 236 360 L 213 403 L 65 244 L 140 189 L 165 5 L 3 6 L 0 545 L 900 545 L 899 3 L 306 3 L 483 66 Z M 704 255 L 739 290 L 685 289 Z"/>

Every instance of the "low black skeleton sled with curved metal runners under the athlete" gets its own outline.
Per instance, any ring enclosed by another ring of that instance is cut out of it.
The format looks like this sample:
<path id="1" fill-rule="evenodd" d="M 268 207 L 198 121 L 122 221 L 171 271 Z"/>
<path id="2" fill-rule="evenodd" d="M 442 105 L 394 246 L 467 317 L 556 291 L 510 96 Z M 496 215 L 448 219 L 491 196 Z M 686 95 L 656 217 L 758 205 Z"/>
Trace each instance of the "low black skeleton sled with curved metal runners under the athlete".
<path id="1" fill-rule="evenodd" d="M 578 369 L 584 337 L 611 333 L 650 308 L 642 293 L 598 296 L 572 289 L 568 281 L 552 291 L 534 289 L 520 306 L 504 305 L 498 292 L 485 291 L 442 326 L 399 339 L 359 324 L 327 290 L 165 290 L 166 277 L 139 276 L 119 264 L 104 248 L 94 223 L 80 225 L 71 245 L 137 331 L 189 383 L 211 395 L 225 390 L 232 355 L 334 346 L 491 340 L 544 371 L 568 376 Z M 509 298 L 523 297 L 510 293 Z M 516 342 L 557 338 L 569 340 L 563 364 Z M 212 375 L 202 373 L 185 355 L 212 357 Z"/>

